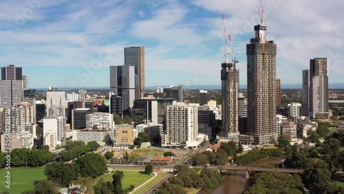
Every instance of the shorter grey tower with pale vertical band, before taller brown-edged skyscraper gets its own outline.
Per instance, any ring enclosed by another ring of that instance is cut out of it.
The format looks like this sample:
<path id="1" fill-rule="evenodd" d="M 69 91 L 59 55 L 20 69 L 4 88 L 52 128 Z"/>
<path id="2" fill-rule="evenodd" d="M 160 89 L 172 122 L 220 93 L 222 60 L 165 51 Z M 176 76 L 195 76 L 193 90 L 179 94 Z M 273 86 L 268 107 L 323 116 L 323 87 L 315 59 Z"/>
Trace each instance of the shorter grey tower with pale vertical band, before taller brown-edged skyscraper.
<path id="1" fill-rule="evenodd" d="M 110 92 L 123 98 L 123 110 L 133 107 L 135 91 L 135 67 L 110 66 Z"/>

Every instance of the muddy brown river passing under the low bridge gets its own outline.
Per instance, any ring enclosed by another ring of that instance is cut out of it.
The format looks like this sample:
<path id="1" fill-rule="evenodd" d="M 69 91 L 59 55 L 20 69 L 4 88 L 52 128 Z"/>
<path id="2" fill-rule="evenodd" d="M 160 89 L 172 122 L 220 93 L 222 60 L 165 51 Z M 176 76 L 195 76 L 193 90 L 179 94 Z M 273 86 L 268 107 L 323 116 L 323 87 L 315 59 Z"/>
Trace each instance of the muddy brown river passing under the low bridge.
<path id="1" fill-rule="evenodd" d="M 257 160 L 250 164 L 246 164 L 243 166 L 251 166 L 251 167 L 260 167 L 266 166 L 270 163 L 279 163 L 285 157 L 270 157 L 264 158 L 261 160 Z M 213 190 L 207 191 L 200 191 L 197 194 L 237 194 L 237 193 L 244 193 L 248 186 L 250 186 L 250 182 L 252 178 L 246 179 L 245 175 L 246 172 L 244 171 L 227 171 L 228 175 L 224 175 L 222 183 Z M 252 175 L 250 173 L 250 175 Z"/>

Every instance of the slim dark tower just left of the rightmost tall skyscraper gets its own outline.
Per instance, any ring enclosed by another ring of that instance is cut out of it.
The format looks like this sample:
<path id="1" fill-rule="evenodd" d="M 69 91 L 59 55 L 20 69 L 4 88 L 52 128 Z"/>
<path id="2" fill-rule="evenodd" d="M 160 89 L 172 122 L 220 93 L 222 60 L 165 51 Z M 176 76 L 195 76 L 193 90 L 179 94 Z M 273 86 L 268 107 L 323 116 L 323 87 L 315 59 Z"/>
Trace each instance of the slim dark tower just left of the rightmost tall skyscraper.
<path id="1" fill-rule="evenodd" d="M 309 116 L 310 111 L 310 70 L 302 70 L 302 116 Z"/>

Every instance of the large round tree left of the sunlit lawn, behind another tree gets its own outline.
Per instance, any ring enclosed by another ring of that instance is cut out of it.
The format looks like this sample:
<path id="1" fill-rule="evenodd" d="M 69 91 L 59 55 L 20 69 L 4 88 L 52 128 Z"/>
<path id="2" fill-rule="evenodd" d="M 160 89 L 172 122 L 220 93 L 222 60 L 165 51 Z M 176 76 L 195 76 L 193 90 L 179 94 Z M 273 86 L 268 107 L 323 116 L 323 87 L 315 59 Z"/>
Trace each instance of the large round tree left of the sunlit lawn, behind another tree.
<path id="1" fill-rule="evenodd" d="M 96 153 L 86 153 L 85 156 L 76 160 L 76 164 L 83 177 L 96 178 L 107 171 L 107 162 Z"/>

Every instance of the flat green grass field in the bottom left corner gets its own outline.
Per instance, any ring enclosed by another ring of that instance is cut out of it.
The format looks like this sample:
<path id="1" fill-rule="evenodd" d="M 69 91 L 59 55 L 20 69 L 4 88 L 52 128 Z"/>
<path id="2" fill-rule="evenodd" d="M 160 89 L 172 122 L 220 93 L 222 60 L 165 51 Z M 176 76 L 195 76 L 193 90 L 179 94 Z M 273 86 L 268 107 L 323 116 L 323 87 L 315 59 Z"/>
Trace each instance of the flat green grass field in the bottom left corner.
<path id="1" fill-rule="evenodd" d="M 44 175 L 43 168 L 13 168 L 10 169 L 11 171 L 11 188 L 5 188 L 5 176 L 6 176 L 6 169 L 0 170 L 0 193 L 4 191 L 9 191 L 10 193 L 23 193 L 25 190 L 30 190 L 34 188 L 34 181 L 35 180 L 45 180 L 46 177 Z"/>

